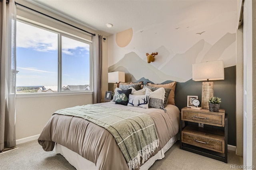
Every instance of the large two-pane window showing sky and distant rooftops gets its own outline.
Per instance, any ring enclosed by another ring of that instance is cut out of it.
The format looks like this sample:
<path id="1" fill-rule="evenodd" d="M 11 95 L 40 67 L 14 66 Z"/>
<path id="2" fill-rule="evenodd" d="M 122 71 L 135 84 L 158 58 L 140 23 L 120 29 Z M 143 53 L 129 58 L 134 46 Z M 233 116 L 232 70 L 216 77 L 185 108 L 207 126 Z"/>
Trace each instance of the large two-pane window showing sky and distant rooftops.
<path id="1" fill-rule="evenodd" d="M 17 21 L 16 92 L 91 91 L 91 42 Z"/>

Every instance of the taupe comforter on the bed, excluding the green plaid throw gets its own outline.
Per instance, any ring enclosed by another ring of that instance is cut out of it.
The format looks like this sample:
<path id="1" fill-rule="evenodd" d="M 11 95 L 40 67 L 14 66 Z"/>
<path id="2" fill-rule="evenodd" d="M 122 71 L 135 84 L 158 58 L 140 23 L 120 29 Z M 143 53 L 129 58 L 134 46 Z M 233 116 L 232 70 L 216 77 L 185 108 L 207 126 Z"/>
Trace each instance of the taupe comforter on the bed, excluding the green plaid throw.
<path id="1" fill-rule="evenodd" d="M 152 156 L 178 133 L 180 111 L 174 105 L 168 105 L 166 113 L 161 109 L 122 106 L 114 102 L 97 105 L 148 114 L 154 121 L 159 139 L 159 147 Z M 79 117 L 54 114 L 44 127 L 38 143 L 46 151 L 53 150 L 55 143 L 59 143 L 94 162 L 100 170 L 129 169 L 114 137 L 103 127 Z"/>

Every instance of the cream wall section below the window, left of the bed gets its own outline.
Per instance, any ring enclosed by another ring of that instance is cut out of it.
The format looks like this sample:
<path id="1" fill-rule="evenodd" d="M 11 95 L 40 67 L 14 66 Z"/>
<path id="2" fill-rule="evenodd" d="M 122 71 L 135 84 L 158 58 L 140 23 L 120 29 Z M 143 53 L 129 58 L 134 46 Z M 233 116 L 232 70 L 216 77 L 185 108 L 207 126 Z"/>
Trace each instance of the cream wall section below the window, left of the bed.
<path id="1" fill-rule="evenodd" d="M 92 94 L 16 98 L 16 140 L 38 135 L 58 109 L 92 103 Z"/>

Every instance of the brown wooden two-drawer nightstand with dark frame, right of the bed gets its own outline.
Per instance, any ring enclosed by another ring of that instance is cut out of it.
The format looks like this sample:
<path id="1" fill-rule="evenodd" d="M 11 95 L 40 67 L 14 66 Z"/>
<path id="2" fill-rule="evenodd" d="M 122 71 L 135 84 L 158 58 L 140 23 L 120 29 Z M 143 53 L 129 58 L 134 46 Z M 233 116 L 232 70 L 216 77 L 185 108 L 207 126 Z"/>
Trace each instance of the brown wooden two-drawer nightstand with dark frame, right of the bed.
<path id="1" fill-rule="evenodd" d="M 182 125 L 183 121 L 185 125 Z M 198 127 L 203 123 L 204 127 Z M 180 149 L 228 162 L 228 118 L 224 109 L 184 107 L 180 113 Z"/>

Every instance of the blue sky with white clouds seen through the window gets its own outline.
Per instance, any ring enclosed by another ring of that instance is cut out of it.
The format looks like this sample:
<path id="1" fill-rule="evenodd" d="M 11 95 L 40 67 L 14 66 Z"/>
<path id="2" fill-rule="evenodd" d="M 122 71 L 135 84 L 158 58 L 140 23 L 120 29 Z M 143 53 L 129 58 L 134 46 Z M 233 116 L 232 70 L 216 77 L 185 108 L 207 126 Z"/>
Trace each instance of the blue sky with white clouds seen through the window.
<path id="1" fill-rule="evenodd" d="M 17 21 L 16 86 L 58 85 L 58 34 Z M 90 46 L 62 36 L 62 86 L 90 82 Z"/>

